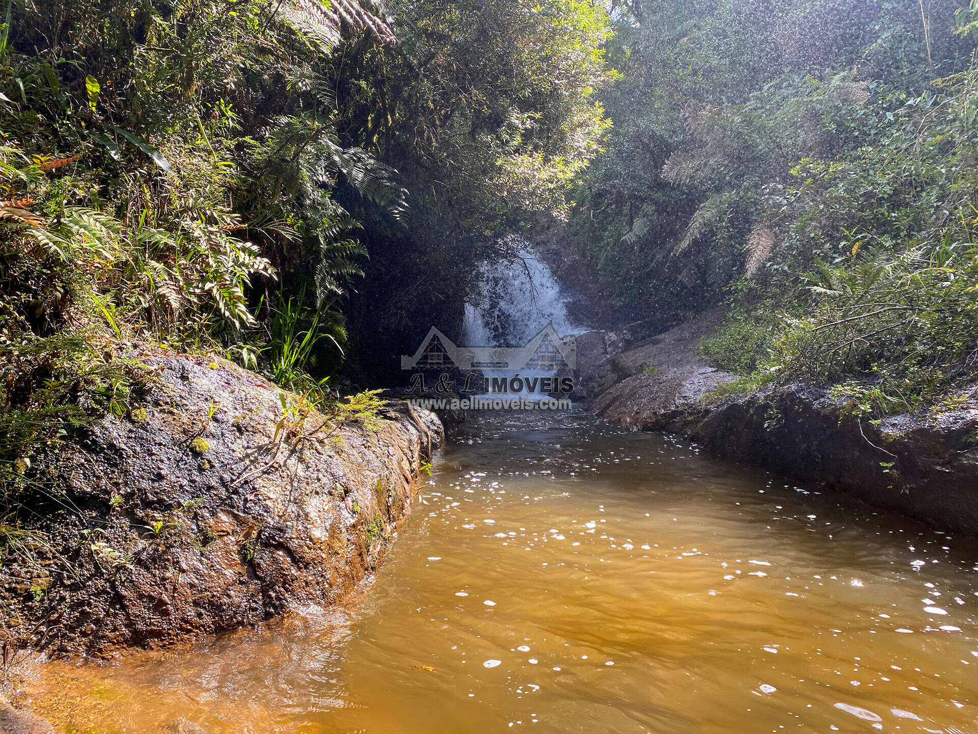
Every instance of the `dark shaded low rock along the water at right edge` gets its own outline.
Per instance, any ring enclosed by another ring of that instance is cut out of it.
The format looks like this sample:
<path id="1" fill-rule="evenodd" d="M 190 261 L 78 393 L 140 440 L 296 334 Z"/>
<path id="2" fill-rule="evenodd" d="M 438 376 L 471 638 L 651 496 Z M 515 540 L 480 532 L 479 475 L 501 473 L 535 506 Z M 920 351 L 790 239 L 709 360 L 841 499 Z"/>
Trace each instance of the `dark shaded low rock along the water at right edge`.
<path id="1" fill-rule="evenodd" d="M 665 428 L 719 456 L 978 533 L 978 409 L 873 425 L 827 390 L 788 386 L 691 410 Z"/>

